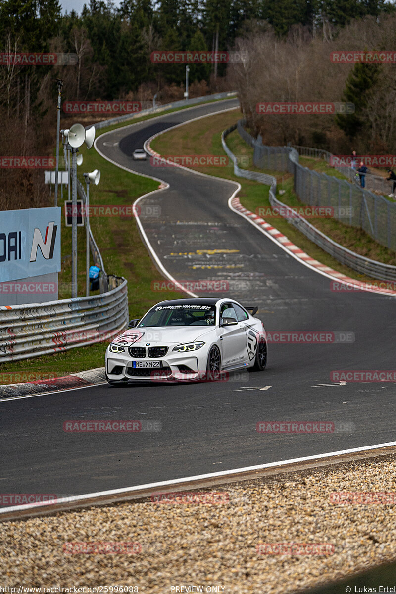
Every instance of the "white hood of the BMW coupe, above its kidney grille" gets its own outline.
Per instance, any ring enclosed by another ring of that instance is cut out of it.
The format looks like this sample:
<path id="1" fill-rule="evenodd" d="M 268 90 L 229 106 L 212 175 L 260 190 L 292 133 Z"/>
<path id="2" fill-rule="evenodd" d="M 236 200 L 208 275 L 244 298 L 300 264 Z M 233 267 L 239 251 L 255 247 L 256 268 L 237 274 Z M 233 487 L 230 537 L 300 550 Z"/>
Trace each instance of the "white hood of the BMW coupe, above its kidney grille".
<path id="1" fill-rule="evenodd" d="M 213 332 L 216 326 L 157 326 L 155 328 L 130 328 L 123 334 L 113 338 L 112 342 L 122 346 L 179 345 L 185 342 L 205 340 L 205 336 Z"/>

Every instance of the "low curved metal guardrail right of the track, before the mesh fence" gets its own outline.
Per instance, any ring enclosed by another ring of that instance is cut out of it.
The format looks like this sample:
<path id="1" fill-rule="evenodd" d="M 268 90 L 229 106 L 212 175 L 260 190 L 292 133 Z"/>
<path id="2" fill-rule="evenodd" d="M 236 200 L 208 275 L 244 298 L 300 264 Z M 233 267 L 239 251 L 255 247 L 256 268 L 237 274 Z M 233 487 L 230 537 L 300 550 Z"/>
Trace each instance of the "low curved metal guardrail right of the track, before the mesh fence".
<path id="1" fill-rule="evenodd" d="M 240 122 L 233 126 L 230 126 L 226 130 L 224 130 L 223 134 L 221 134 L 221 144 L 223 146 L 224 151 L 227 155 L 232 159 L 234 164 L 234 173 L 236 176 L 243 177 L 246 179 L 254 179 L 255 181 L 260 182 L 261 184 L 269 185 L 270 186 L 270 204 L 272 207 L 281 207 L 281 214 L 282 216 L 291 223 L 294 227 L 299 229 L 306 237 L 311 239 L 313 243 L 321 247 L 325 252 L 332 255 L 338 262 L 344 264 L 345 266 L 349 266 L 353 270 L 356 270 L 362 274 L 366 274 L 374 279 L 381 279 L 381 280 L 396 280 L 396 266 L 389 266 L 389 264 L 383 264 L 381 262 L 377 262 L 375 260 L 370 260 L 370 258 L 365 258 L 359 254 L 355 254 L 350 249 L 344 248 L 342 245 L 337 244 L 337 242 L 333 241 L 327 235 L 316 229 L 311 223 L 308 223 L 306 219 L 304 219 L 295 208 L 289 207 L 286 204 L 283 204 L 280 200 L 277 200 L 275 197 L 276 189 L 277 189 L 277 182 L 276 178 L 273 175 L 268 175 L 267 173 L 259 173 L 253 172 L 246 169 L 240 169 L 237 165 L 236 156 L 230 151 L 229 147 L 226 144 L 226 136 L 230 134 L 230 132 L 234 131 L 235 129 L 240 129 Z M 243 130 L 244 134 L 241 134 L 243 140 L 245 140 L 251 146 L 255 146 L 254 138 Z M 261 147 L 260 147 L 261 148 Z M 281 162 L 284 165 L 287 165 L 287 170 L 294 173 L 296 169 L 296 165 L 298 165 L 299 154 L 297 151 L 291 147 L 265 147 L 267 149 L 267 157 L 270 160 L 271 157 L 276 157 L 272 159 L 271 162 L 271 169 L 274 168 L 274 162 Z M 277 155 L 278 151 L 278 155 Z M 261 159 L 263 158 L 262 151 L 261 152 Z M 287 156 L 287 164 L 284 162 L 284 156 Z M 296 183 L 296 178 L 294 177 L 294 184 Z M 348 182 L 345 182 L 346 184 Z"/>

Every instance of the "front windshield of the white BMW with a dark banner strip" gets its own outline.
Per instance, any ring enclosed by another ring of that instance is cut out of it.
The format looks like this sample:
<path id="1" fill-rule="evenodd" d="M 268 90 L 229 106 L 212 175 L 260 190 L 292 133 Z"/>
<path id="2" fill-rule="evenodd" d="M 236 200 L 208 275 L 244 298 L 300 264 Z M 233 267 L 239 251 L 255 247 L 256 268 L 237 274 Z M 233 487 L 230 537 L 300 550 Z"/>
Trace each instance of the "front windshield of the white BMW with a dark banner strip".
<path id="1" fill-rule="evenodd" d="M 138 324 L 138 328 L 153 326 L 213 326 L 214 305 L 156 305 Z"/>

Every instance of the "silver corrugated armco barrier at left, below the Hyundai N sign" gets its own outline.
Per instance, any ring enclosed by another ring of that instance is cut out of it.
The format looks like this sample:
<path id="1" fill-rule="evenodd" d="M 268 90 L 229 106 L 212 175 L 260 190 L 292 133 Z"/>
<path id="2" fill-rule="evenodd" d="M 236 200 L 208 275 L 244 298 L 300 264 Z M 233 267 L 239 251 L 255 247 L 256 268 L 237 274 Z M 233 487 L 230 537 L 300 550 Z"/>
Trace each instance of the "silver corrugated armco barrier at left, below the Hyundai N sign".
<path id="1" fill-rule="evenodd" d="M 0 307 L 0 364 L 109 342 L 128 323 L 126 280 L 115 289 L 45 304 Z"/>

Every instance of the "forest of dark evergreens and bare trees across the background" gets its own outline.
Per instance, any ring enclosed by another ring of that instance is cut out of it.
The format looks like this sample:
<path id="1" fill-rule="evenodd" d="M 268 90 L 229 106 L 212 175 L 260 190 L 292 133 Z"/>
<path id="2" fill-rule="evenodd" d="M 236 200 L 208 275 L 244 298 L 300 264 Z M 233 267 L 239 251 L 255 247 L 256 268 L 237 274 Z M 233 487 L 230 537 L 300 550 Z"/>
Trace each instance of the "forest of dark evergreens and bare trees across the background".
<path id="1" fill-rule="evenodd" d="M 72 53 L 77 64 L 0 64 L 0 154 L 48 155 L 62 101 L 183 98 L 185 65 L 155 51 L 243 51 L 243 64 L 191 64 L 189 96 L 237 90 L 249 128 L 268 144 L 389 153 L 396 144 L 394 65 L 332 64 L 330 52 L 396 48 L 385 0 L 90 0 L 81 14 L 58 0 L 0 1 L 0 51 Z M 352 116 L 262 116 L 260 101 L 346 101 Z M 106 116 L 107 117 L 107 116 Z M 41 177 L 41 176 L 40 176 Z M 37 172 L 0 170 L 0 210 L 40 206 Z"/>

